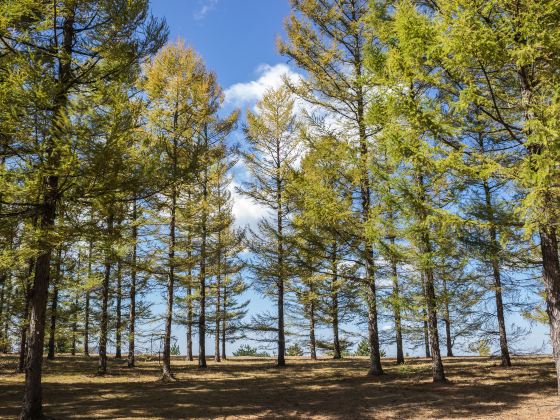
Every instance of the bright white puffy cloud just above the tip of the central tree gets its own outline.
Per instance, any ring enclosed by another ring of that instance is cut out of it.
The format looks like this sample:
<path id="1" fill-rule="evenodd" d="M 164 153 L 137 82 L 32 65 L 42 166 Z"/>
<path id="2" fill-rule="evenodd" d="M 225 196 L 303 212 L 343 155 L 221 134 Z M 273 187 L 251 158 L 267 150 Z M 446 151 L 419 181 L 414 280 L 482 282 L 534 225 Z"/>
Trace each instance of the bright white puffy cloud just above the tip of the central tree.
<path id="1" fill-rule="evenodd" d="M 243 107 L 258 101 L 268 89 L 282 86 L 284 76 L 297 81 L 301 76 L 286 64 L 261 64 L 256 73 L 258 78 L 246 83 L 236 83 L 225 90 L 225 102 L 237 107 Z"/>

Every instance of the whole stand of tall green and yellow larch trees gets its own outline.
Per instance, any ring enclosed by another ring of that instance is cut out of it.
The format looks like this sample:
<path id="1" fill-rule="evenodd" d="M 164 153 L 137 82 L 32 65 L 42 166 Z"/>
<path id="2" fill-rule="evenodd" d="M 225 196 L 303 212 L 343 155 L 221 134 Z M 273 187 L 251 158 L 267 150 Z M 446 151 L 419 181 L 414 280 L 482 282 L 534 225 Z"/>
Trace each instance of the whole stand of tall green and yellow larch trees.
<path id="1" fill-rule="evenodd" d="M 42 415 L 45 345 L 133 367 L 153 287 L 165 380 L 181 323 L 200 367 L 209 334 L 217 360 L 242 333 L 282 366 L 287 342 L 342 357 L 356 325 L 371 375 L 407 342 L 443 382 L 442 346 L 510 366 L 512 311 L 550 323 L 560 370 L 560 4 L 290 3 L 278 48 L 303 76 L 247 110 L 239 149 L 239 112 L 146 0 L 1 3 L 0 341 L 22 418 Z M 269 213 L 248 232 L 238 161 Z M 242 325 L 246 273 L 276 308 Z"/>

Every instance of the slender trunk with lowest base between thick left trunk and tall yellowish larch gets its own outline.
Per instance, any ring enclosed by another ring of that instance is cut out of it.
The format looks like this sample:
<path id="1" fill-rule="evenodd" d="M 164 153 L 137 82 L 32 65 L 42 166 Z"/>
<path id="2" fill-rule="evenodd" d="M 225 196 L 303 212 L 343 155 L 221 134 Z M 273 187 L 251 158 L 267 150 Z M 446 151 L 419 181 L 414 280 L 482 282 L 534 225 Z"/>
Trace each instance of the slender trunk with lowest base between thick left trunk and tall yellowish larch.
<path id="1" fill-rule="evenodd" d="M 113 264 L 113 252 L 111 250 L 111 243 L 113 239 L 113 212 L 109 212 L 107 217 L 107 249 L 105 250 L 105 273 L 103 276 L 103 284 L 101 290 L 101 325 L 99 331 L 99 365 L 97 373 L 105 375 L 107 373 L 107 333 L 109 325 L 109 282 L 111 280 L 111 267 Z"/>

